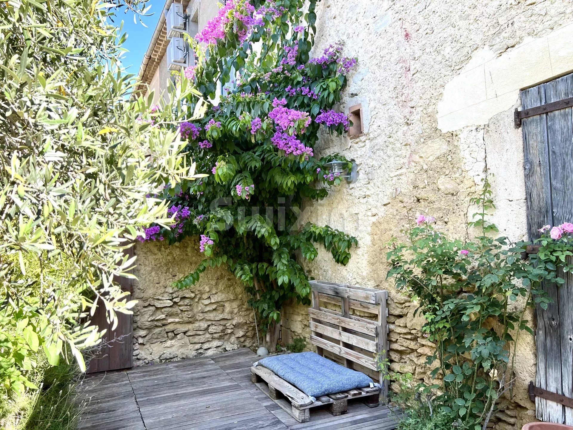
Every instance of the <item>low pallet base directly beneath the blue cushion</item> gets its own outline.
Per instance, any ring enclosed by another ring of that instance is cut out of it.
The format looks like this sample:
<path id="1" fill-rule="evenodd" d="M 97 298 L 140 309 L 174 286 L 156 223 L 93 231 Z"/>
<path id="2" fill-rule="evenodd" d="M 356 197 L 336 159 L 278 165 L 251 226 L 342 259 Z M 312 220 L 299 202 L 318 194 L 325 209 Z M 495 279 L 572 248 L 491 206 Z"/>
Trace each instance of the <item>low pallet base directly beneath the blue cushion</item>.
<path id="1" fill-rule="evenodd" d="M 380 404 L 380 389 L 370 387 L 328 394 L 328 396 L 321 396 L 313 401 L 307 394 L 263 366 L 251 368 L 251 380 L 258 389 L 291 414 L 299 423 L 308 421 L 310 409 L 317 406 L 327 405 L 328 411 L 337 416 L 347 413 L 348 400 L 350 399 L 362 398 L 364 403 L 371 408 Z"/>

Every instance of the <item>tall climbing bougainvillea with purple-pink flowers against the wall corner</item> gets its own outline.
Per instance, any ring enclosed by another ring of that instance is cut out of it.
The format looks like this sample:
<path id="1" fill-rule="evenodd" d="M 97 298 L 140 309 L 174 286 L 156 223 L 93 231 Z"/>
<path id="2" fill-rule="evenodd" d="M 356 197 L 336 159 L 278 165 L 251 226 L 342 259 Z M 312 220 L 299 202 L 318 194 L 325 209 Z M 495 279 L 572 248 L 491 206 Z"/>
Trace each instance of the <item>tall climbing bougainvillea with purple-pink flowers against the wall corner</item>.
<path id="1" fill-rule="evenodd" d="M 351 167 L 340 154 L 315 155 L 321 128 L 348 131 L 347 116 L 335 106 L 356 64 L 342 56 L 340 43 L 310 57 L 315 5 L 309 2 L 304 13 L 302 0 L 227 1 L 195 39 L 187 38 L 198 61 L 175 76 L 187 93 L 182 108 L 193 111 L 200 99 L 213 105 L 201 121 L 179 130 L 197 170 L 210 176 L 159 196 L 177 224 L 152 225 L 142 238 L 171 244 L 201 235 L 205 258 L 176 286 L 189 287 L 207 267 L 224 265 L 245 285 L 270 346 L 286 300 L 309 303 L 299 258 L 315 259 L 320 244 L 346 264 L 357 244 L 329 226 L 298 222 L 305 202 L 325 198 L 343 180 L 327 163 L 339 159 Z"/>

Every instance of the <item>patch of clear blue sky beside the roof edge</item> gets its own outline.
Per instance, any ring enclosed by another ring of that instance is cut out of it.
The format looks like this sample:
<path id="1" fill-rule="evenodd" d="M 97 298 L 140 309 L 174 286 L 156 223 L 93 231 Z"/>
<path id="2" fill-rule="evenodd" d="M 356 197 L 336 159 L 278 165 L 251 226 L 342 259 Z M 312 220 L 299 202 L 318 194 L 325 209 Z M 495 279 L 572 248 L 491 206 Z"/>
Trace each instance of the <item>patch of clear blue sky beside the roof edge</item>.
<path id="1" fill-rule="evenodd" d="M 149 42 L 151 41 L 151 36 L 155 31 L 155 26 L 159 20 L 159 16 L 162 13 L 164 0 L 154 0 L 149 2 L 148 5 L 151 6 L 148 14 L 152 14 L 148 17 L 141 17 L 142 21 L 147 28 L 144 27 L 139 19 L 137 19 L 137 24 L 134 22 L 134 15 L 131 13 L 120 13 L 119 18 L 123 19 L 123 33 L 127 33 L 127 41 L 123 44 L 123 48 L 129 50 L 123 57 L 123 65 L 127 69 L 128 73 L 134 73 L 137 75 L 139 72 L 139 66 L 143 60 L 143 56 L 147 51 Z M 119 24 L 119 22 L 118 22 Z"/>

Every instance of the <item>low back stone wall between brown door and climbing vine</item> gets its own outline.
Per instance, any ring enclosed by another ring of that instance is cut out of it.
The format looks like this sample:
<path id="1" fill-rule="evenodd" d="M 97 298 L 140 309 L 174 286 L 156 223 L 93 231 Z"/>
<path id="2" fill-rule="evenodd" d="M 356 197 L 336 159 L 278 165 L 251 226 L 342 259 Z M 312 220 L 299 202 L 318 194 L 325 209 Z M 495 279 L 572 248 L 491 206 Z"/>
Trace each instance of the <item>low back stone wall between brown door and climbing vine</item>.
<path id="1" fill-rule="evenodd" d="M 137 243 L 134 363 L 212 355 L 256 344 L 253 310 L 244 287 L 225 269 L 207 269 L 197 285 L 171 284 L 201 261 L 197 239 Z"/>

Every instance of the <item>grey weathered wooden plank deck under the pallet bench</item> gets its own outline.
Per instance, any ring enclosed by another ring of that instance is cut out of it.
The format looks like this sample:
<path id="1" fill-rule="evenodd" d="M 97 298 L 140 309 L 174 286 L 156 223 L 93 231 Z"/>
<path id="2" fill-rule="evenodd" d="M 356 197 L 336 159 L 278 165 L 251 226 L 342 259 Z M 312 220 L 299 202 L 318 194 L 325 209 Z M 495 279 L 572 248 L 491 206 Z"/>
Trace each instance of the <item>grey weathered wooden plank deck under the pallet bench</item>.
<path id="1" fill-rule="evenodd" d="M 317 411 L 299 423 L 254 386 L 248 349 L 88 376 L 90 398 L 79 430 L 391 430 L 386 406 L 348 404 L 348 413 Z"/>

